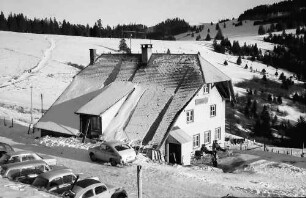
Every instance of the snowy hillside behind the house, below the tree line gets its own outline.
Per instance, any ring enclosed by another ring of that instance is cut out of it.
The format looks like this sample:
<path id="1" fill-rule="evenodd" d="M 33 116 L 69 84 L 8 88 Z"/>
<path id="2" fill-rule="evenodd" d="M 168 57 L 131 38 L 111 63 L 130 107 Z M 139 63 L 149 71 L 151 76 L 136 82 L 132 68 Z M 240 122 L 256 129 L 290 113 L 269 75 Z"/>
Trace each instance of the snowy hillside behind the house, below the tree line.
<path id="1" fill-rule="evenodd" d="M 273 48 L 272 44 L 262 42 L 262 36 L 249 35 L 239 37 L 239 40 L 248 44 L 257 42 L 258 47 L 262 49 Z M 98 54 L 118 53 L 119 39 L 0 31 L 0 43 L 0 116 L 29 122 L 31 86 L 34 119 L 37 120 L 40 117 L 41 94 L 43 108 L 47 110 L 79 71 L 71 64 L 88 65 L 90 48 L 97 49 Z M 253 76 L 260 77 L 259 73 L 243 69 L 245 64 L 257 71 L 265 68 L 271 76 L 275 73 L 274 68 L 266 68 L 266 65 L 258 62 L 243 60 L 241 66 L 236 65 L 236 56 L 213 52 L 212 41 L 127 40 L 133 53 L 140 53 L 140 44 L 144 43 L 153 44 L 153 53 L 165 53 L 168 49 L 171 53 L 199 52 L 203 58 L 229 75 L 234 83 L 251 79 Z M 227 67 L 223 66 L 224 60 L 229 62 Z M 291 75 L 286 71 L 284 73 Z M 236 90 L 243 92 L 241 89 Z M 292 120 L 296 120 L 300 115 L 301 113 L 292 111 Z"/>

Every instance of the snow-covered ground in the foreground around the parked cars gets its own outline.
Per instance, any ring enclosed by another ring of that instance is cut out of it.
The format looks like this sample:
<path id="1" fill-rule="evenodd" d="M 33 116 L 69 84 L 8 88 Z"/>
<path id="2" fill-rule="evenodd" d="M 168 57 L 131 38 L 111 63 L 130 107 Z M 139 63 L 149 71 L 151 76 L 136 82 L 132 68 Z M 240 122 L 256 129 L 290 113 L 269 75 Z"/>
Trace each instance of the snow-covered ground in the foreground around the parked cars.
<path id="1" fill-rule="evenodd" d="M 169 166 L 154 163 L 139 155 L 131 165 L 112 167 L 108 163 L 90 161 L 87 149 L 93 144 L 80 143 L 74 138 L 33 139 L 27 127 L 2 125 L 0 142 L 11 144 L 16 150 L 31 150 L 55 157 L 59 164 L 72 168 L 84 176 L 97 176 L 113 186 L 123 186 L 129 197 L 137 197 L 136 166 L 142 165 L 143 197 L 238 197 L 305 196 L 306 170 L 278 161 L 267 161 L 258 155 L 239 154 L 218 160 L 219 168 L 198 166 Z M 289 160 L 296 160 L 287 156 Z M 298 158 L 304 160 L 303 158 Z M 0 179 L 2 197 L 53 197 L 27 185 Z"/>

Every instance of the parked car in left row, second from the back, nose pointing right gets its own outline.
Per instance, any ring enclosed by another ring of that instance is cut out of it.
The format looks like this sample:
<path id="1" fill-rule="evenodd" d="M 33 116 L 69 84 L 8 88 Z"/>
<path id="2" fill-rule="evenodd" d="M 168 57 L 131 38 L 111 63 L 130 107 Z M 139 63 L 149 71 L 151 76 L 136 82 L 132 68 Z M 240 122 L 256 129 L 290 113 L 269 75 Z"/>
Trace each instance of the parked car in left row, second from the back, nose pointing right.
<path id="1" fill-rule="evenodd" d="M 30 151 L 16 151 L 16 152 L 7 152 L 2 155 L 0 158 L 0 165 L 2 164 L 10 164 L 16 162 L 24 162 L 24 161 L 31 161 L 31 160 L 43 160 L 49 166 L 55 166 L 57 161 L 55 158 L 51 158 L 49 156 L 41 156 L 37 153 L 33 153 Z"/>

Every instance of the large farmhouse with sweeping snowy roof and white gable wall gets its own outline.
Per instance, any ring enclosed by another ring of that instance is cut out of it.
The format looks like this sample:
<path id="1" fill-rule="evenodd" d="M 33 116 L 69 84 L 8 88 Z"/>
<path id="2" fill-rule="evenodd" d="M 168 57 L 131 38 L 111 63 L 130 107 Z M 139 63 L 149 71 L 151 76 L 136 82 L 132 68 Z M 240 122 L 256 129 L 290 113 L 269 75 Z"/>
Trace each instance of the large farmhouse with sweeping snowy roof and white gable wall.
<path id="1" fill-rule="evenodd" d="M 102 54 L 35 124 L 40 136 L 102 137 L 151 145 L 166 161 L 190 164 L 202 144 L 225 138 L 231 79 L 199 54 Z"/>

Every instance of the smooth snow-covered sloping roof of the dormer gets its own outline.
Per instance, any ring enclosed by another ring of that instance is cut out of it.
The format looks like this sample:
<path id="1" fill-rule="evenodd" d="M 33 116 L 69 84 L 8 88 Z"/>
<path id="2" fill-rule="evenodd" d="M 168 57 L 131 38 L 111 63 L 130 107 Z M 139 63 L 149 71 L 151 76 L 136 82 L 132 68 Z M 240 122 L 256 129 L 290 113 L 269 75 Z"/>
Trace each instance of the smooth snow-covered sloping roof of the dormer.
<path id="1" fill-rule="evenodd" d="M 79 108 L 77 114 L 101 115 L 121 98 L 133 91 L 131 82 L 113 82 L 104 87 L 99 95 Z"/>

